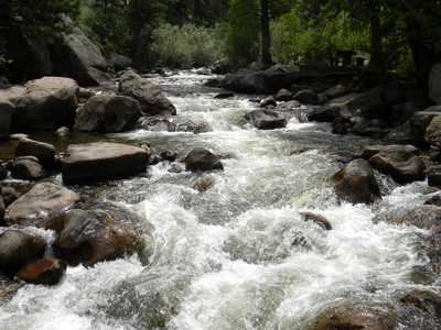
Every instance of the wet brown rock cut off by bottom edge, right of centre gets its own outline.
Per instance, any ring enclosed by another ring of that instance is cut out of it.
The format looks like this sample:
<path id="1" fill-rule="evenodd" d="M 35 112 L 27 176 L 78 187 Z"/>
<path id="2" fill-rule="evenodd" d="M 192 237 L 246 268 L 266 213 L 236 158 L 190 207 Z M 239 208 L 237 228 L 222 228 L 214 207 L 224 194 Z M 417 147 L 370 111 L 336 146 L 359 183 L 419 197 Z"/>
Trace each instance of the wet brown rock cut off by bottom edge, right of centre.
<path id="1" fill-rule="evenodd" d="M 345 304 L 320 315 L 309 330 L 394 330 L 397 319 L 386 307 Z"/>

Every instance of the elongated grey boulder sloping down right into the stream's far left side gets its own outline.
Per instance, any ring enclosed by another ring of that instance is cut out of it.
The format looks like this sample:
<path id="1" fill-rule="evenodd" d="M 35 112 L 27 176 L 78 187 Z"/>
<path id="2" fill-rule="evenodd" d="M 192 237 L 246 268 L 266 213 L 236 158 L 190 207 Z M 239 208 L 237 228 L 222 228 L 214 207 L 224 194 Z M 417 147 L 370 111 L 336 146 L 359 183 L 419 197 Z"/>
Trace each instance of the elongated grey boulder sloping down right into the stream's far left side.
<path id="1" fill-rule="evenodd" d="M 120 77 L 118 91 L 137 100 L 146 114 L 176 114 L 176 108 L 164 94 L 132 70 Z"/>

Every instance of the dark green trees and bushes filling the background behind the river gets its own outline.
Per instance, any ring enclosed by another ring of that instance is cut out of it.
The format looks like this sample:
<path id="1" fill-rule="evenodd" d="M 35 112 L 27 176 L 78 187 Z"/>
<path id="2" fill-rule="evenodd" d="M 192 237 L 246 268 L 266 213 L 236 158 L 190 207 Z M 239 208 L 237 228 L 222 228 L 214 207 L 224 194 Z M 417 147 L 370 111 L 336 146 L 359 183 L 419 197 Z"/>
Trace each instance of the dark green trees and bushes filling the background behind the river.
<path id="1" fill-rule="evenodd" d="M 422 0 L 1 0 L 0 67 L 10 29 L 55 42 L 78 26 L 103 54 L 137 67 L 189 68 L 222 61 L 229 72 L 260 59 L 322 65 L 338 50 L 374 70 L 427 81 L 440 59 L 441 1 Z M 68 18 L 68 19 L 67 19 Z"/>

